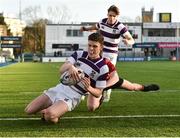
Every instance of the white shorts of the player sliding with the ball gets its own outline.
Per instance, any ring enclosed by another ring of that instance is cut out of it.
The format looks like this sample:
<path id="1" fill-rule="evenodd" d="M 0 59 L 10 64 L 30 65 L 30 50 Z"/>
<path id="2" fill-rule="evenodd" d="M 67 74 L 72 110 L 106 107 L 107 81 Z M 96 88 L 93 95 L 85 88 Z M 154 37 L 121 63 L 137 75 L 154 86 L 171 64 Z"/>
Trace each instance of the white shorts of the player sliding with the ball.
<path id="1" fill-rule="evenodd" d="M 52 101 L 63 101 L 68 106 L 68 111 L 72 111 L 81 101 L 82 95 L 71 89 L 69 86 L 58 84 L 44 92 Z"/>

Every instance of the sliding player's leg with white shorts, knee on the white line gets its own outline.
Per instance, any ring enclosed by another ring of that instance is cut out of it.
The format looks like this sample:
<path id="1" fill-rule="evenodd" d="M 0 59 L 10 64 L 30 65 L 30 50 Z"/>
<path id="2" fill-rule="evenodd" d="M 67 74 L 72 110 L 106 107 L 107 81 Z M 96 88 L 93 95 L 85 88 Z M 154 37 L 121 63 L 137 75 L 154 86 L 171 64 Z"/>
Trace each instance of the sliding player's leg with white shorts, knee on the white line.
<path id="1" fill-rule="evenodd" d="M 68 111 L 72 111 L 79 103 L 81 95 L 69 86 L 57 85 L 46 92 L 52 101 L 52 105 L 41 111 L 46 121 L 57 123 L 59 117 Z"/>

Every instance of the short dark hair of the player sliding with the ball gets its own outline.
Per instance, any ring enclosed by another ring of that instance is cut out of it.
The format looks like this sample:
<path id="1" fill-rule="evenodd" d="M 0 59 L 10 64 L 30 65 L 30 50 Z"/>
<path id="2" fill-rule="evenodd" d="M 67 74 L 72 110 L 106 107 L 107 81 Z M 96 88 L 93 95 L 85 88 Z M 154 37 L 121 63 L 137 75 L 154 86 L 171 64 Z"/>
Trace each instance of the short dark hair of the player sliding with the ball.
<path id="1" fill-rule="evenodd" d="M 88 36 L 88 40 L 99 42 L 101 45 L 104 43 L 104 37 L 100 33 L 92 33 Z"/>

